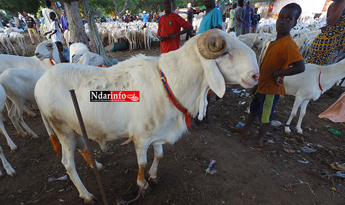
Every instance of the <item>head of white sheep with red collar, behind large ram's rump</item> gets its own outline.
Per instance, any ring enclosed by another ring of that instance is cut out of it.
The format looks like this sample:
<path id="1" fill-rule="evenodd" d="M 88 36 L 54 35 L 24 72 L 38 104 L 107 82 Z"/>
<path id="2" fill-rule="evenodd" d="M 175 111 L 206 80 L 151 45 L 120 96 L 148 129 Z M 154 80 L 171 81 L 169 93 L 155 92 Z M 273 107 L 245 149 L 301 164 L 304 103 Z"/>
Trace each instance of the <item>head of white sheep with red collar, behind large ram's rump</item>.
<path id="1" fill-rule="evenodd" d="M 53 59 L 56 63 L 61 62 L 58 47 L 56 47 L 55 43 L 51 41 L 43 41 L 38 44 L 35 50 L 35 56 L 41 61 L 43 59 Z"/>

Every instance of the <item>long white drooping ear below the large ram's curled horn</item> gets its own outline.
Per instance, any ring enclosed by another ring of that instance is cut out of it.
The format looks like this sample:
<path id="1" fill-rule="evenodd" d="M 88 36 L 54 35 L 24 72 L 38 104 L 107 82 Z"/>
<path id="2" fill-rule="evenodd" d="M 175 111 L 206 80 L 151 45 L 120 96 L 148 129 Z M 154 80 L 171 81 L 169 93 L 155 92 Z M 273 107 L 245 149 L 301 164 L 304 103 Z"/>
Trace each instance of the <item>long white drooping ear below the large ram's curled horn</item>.
<path id="1" fill-rule="evenodd" d="M 205 58 L 201 58 L 200 61 L 203 65 L 209 88 L 220 98 L 223 97 L 225 93 L 225 80 L 219 71 L 216 61 L 214 59 Z"/>

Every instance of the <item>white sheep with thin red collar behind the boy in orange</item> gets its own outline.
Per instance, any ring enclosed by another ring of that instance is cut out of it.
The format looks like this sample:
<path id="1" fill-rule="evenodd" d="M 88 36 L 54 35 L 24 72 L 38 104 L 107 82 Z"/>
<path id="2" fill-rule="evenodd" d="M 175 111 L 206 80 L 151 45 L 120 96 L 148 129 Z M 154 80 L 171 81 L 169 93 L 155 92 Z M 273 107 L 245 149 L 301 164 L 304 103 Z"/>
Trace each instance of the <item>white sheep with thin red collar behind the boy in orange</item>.
<path id="1" fill-rule="evenodd" d="M 301 105 L 300 116 L 298 118 L 296 128 L 299 134 L 303 134 L 301 123 L 304 115 L 306 114 L 306 109 L 309 101 L 311 99 L 317 100 L 321 94 L 323 94 L 344 77 L 345 59 L 333 65 L 327 66 L 307 63 L 306 70 L 303 73 L 293 76 L 285 76 L 284 88 L 286 94 L 294 95 L 296 97 L 291 115 L 285 124 L 285 133 L 291 132 L 291 120 L 296 116 L 297 109 Z"/>

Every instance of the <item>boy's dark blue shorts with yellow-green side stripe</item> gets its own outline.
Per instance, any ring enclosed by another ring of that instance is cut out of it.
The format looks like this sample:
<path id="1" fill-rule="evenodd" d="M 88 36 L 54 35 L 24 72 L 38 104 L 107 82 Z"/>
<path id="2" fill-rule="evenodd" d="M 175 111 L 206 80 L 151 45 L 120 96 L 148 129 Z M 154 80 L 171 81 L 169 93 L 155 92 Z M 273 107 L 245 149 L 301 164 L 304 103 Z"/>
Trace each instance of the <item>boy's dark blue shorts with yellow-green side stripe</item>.
<path id="1" fill-rule="evenodd" d="M 249 110 L 259 117 L 260 123 L 272 122 L 272 116 L 275 112 L 278 99 L 279 95 L 267 95 L 256 92 Z"/>

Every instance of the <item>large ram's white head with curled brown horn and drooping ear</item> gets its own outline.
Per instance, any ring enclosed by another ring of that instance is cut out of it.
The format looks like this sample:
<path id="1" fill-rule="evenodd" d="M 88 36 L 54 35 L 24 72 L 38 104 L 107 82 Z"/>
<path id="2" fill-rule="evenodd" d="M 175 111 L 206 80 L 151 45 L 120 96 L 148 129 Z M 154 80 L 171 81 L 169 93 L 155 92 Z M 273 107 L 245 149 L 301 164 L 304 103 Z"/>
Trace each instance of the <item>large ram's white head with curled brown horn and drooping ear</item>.
<path id="1" fill-rule="evenodd" d="M 219 97 L 224 95 L 226 84 L 256 85 L 259 67 L 255 53 L 237 37 L 210 29 L 198 37 L 197 45 L 209 88 Z"/>

